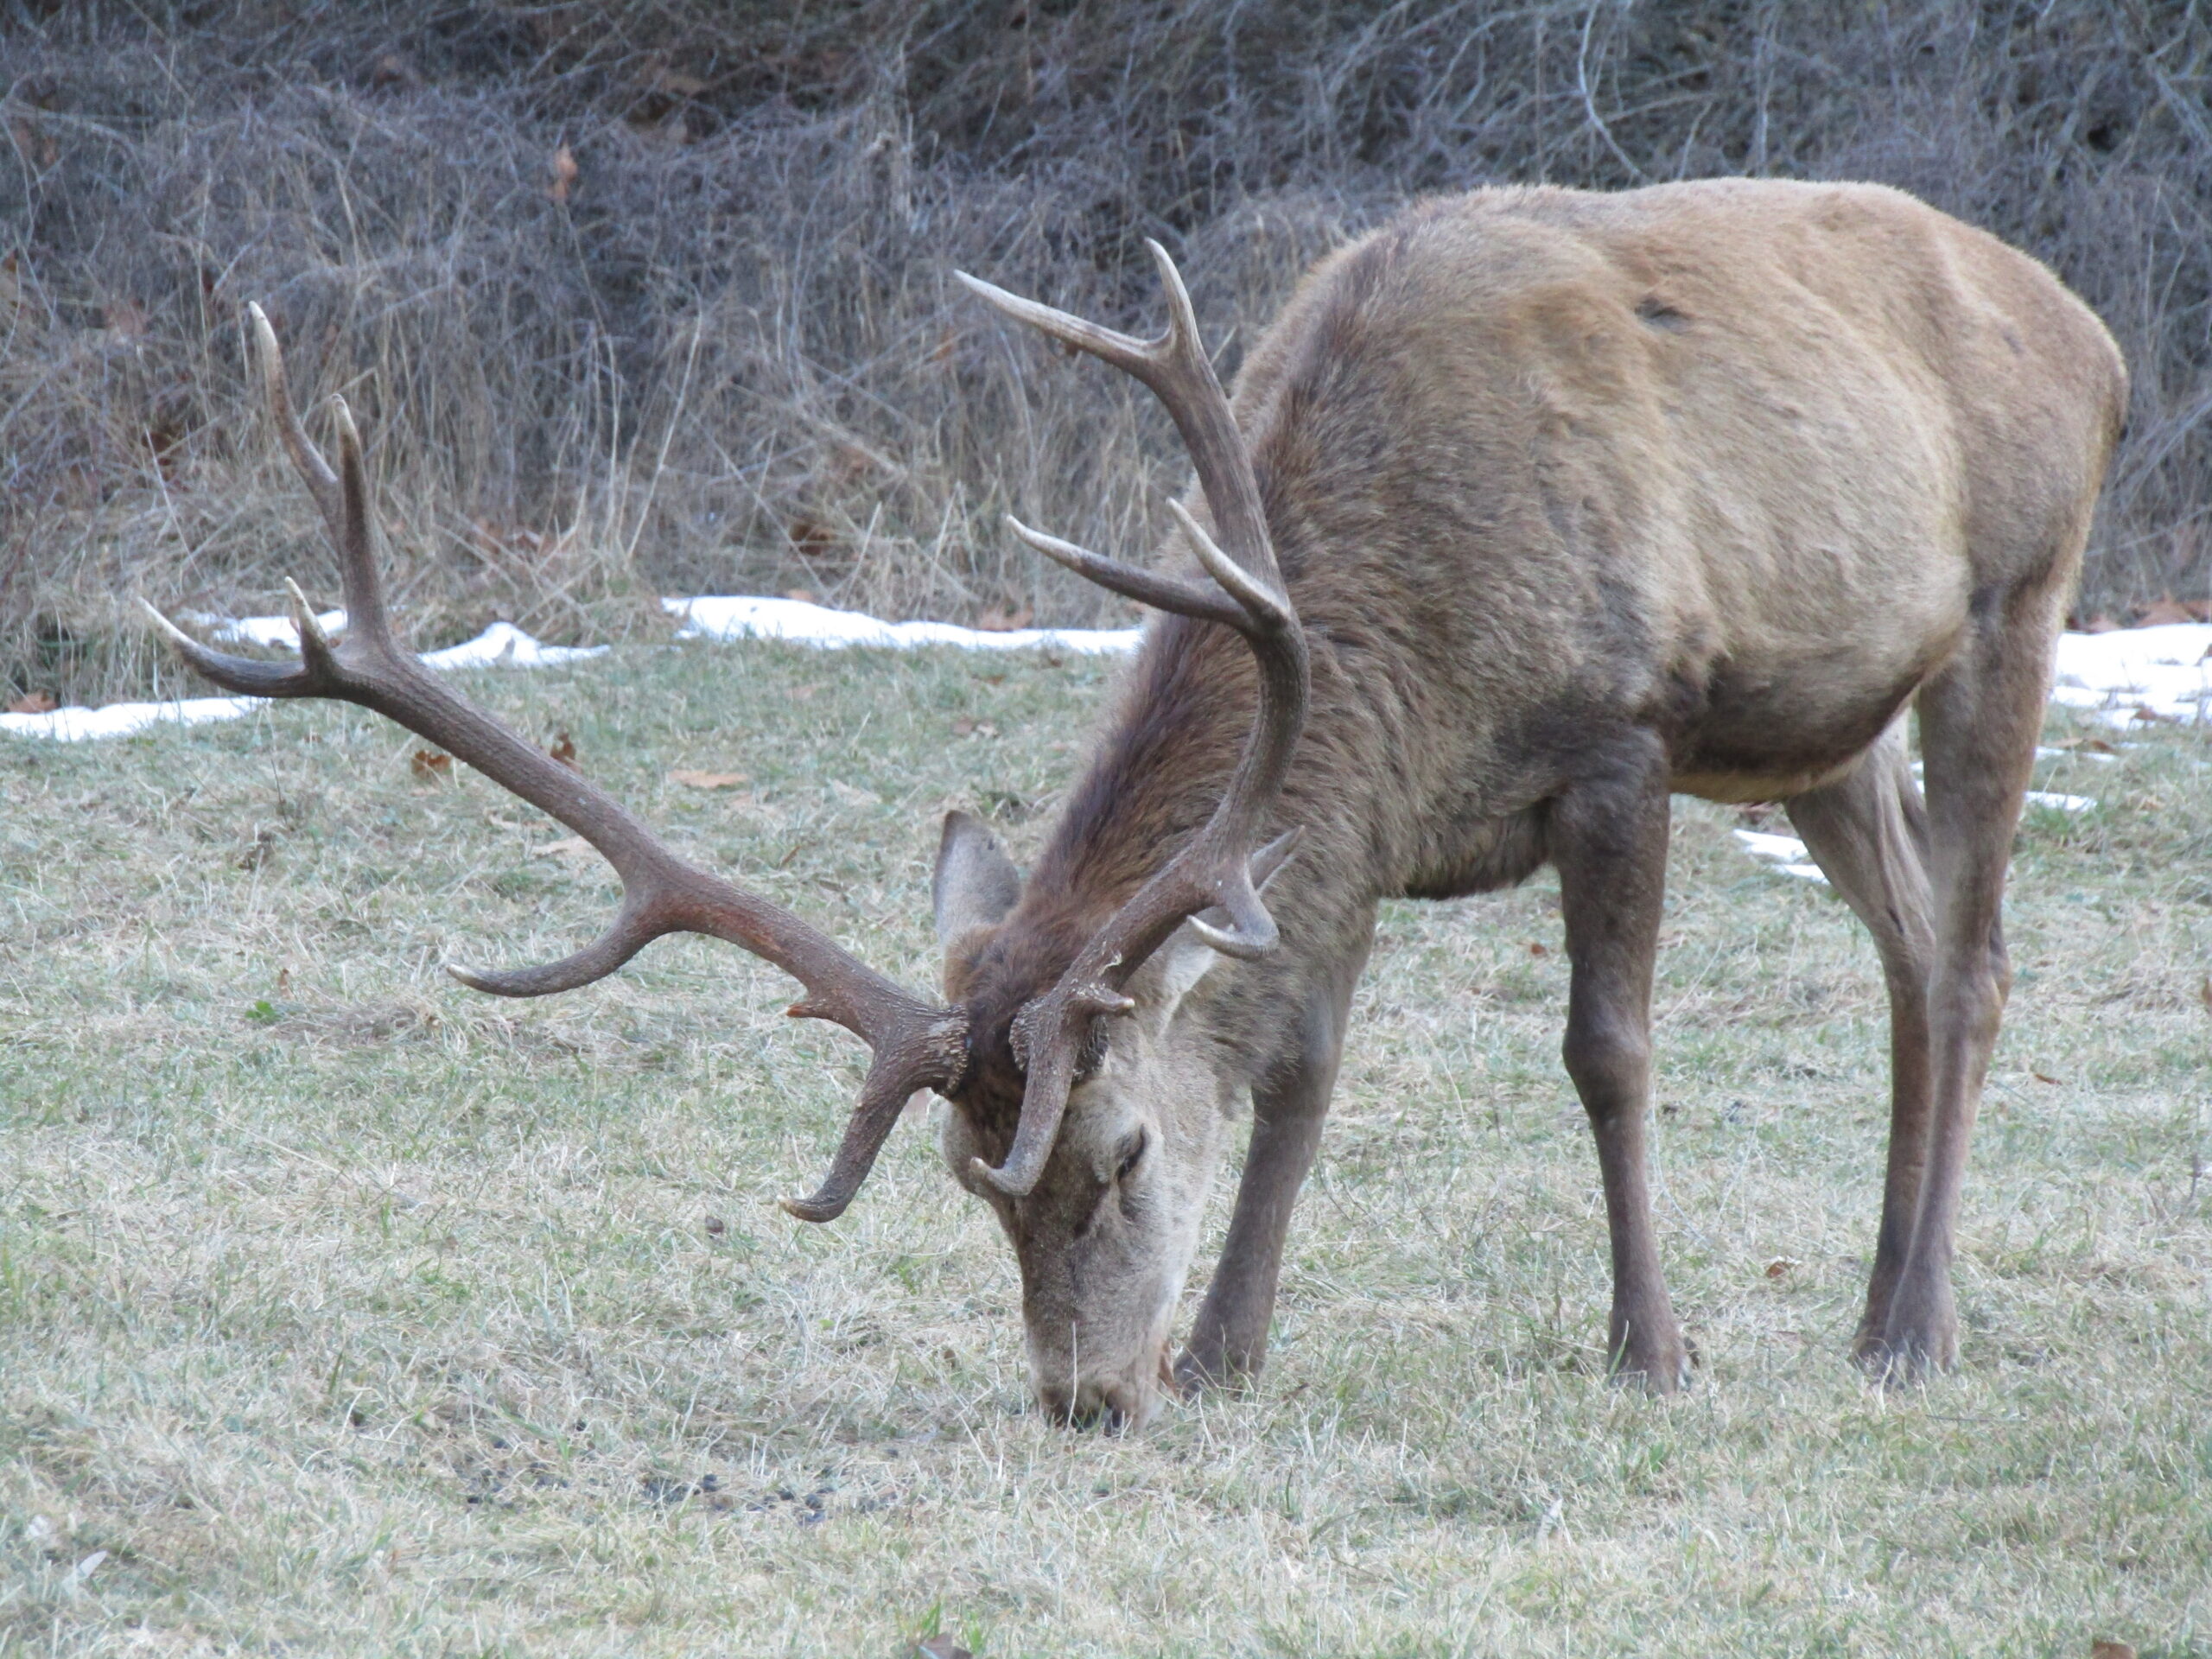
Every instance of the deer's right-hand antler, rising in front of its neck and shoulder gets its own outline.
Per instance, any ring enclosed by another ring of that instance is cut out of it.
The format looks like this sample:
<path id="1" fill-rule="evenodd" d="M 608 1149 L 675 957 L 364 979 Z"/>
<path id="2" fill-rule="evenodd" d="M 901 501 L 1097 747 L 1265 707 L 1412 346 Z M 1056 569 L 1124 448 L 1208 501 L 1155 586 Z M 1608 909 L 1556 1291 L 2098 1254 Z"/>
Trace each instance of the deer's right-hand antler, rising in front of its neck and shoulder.
<path id="1" fill-rule="evenodd" d="M 1135 1004 L 1121 993 L 1130 973 L 1157 951 L 1186 920 L 1225 956 L 1254 958 L 1274 947 L 1274 918 L 1261 902 L 1259 887 L 1290 856 L 1296 832 L 1267 847 L 1254 845 L 1267 814 L 1283 790 L 1290 752 L 1305 726 L 1305 633 L 1283 588 L 1274 562 L 1267 518 L 1261 509 L 1252 453 L 1245 449 L 1230 400 L 1214 378 L 1214 365 L 1199 341 L 1199 321 L 1190 310 L 1190 292 L 1181 272 L 1157 241 L 1146 243 L 1159 281 L 1168 290 L 1168 332 L 1157 341 L 1115 334 L 1079 316 L 1009 294 L 1002 288 L 960 272 L 971 290 L 1009 316 L 1051 334 L 1077 352 L 1113 363 L 1133 374 L 1157 396 L 1175 418 L 1183 447 L 1190 451 L 1206 509 L 1234 549 L 1234 557 L 1206 533 L 1181 502 L 1168 502 L 1181 524 L 1190 551 L 1214 577 L 1219 588 L 1203 588 L 1181 577 L 1141 571 L 1133 564 L 1102 557 L 1073 542 L 1044 535 L 1020 520 L 1006 520 L 1015 535 L 1077 575 L 1113 588 L 1130 599 L 1186 617 L 1237 628 L 1259 659 L 1259 712 L 1245 739 L 1228 792 L 1214 816 L 1206 821 L 1183 849 L 1168 860 L 1082 949 L 1060 982 L 1031 1002 L 1015 1020 L 1015 1046 L 1022 1051 L 1026 1082 L 1022 1119 L 1013 1148 L 1000 1168 L 975 1159 L 975 1170 L 1000 1192 L 1024 1197 L 1037 1186 L 1053 1137 L 1068 1108 L 1075 1062 L 1091 1022 L 1104 1013 L 1128 1013 Z M 1199 911 L 1221 909 L 1230 927 L 1206 922 Z"/>

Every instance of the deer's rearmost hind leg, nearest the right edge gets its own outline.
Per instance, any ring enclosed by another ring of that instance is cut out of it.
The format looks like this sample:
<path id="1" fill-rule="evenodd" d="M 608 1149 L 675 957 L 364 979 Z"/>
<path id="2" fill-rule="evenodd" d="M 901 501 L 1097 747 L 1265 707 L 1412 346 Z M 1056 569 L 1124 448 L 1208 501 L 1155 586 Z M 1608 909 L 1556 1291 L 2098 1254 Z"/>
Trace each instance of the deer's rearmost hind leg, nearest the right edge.
<path id="1" fill-rule="evenodd" d="M 2004 953 L 2004 869 L 2051 695 L 2057 597 L 2002 595 L 1960 655 L 1920 690 L 1936 958 L 1929 982 L 1927 1170 L 1911 1243 L 1889 1298 L 1882 1367 L 1898 1376 L 1958 1363 L 1951 1256 L 1982 1079 L 2013 984 Z"/>

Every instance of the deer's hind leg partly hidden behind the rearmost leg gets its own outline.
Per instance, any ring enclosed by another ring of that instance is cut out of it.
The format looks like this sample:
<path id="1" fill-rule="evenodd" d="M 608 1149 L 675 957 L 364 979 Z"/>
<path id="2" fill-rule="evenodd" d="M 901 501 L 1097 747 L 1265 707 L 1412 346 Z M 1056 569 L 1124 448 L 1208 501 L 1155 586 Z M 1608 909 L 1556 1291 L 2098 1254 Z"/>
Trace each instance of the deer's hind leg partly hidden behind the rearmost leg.
<path id="1" fill-rule="evenodd" d="M 1889 1170 L 1882 1181 L 1882 1225 L 1874 1239 L 1867 1314 L 1851 1340 L 1860 1358 L 1880 1360 L 1889 1303 L 1920 1208 L 1920 1175 L 1929 1148 L 1929 973 L 1936 922 L 1929 907 L 1927 807 L 1905 759 L 1905 721 L 1891 726 L 1867 759 L 1838 783 L 1790 801 L 1790 823 L 1814 863 L 1874 936 L 1889 982 Z"/>

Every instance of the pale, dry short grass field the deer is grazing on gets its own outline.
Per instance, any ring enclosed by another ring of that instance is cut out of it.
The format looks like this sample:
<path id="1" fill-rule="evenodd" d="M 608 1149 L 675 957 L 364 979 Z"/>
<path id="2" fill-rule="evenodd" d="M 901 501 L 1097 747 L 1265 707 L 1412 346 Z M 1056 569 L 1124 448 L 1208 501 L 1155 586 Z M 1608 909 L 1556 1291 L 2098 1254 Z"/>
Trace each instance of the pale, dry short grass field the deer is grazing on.
<path id="1" fill-rule="evenodd" d="M 1018 843 L 1108 670 L 630 646 L 480 675 L 672 838 L 929 980 L 936 818 Z M 1555 889 L 1394 905 L 1274 1363 L 1141 1438 L 1026 1407 L 1013 1261 L 858 1046 L 343 708 L 0 745 L 0 1652 L 2212 1655 L 2212 745 L 2059 759 L 1958 1265 L 1964 1369 L 1845 1360 L 1871 949 L 1686 803 L 1659 1214 L 1703 1352 L 1601 1376 Z M 695 790 L 670 770 L 743 772 Z M 1225 1210 L 1225 1203 L 1221 1206 Z M 1219 1217 L 1217 1217 L 1219 1221 Z"/>

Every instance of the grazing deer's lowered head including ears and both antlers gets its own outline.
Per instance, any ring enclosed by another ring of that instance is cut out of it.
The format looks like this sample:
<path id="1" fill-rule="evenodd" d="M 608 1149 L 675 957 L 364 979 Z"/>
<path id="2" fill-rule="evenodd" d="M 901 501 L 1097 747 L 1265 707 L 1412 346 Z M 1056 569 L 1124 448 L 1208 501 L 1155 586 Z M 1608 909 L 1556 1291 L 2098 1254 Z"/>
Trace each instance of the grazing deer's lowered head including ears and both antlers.
<path id="1" fill-rule="evenodd" d="M 622 876 L 622 907 L 595 942 L 533 969 L 449 967 L 462 984 L 491 995 L 571 991 L 606 978 L 661 933 L 708 933 L 796 978 L 805 993 L 792 1015 L 832 1020 L 867 1042 L 874 1062 L 827 1177 L 814 1194 L 783 1201 L 801 1221 L 843 1214 L 909 1095 L 936 1091 L 953 1102 L 947 1159 L 956 1179 L 991 1203 L 1015 1245 L 1040 1400 L 1062 1416 L 1115 1422 L 1141 1422 L 1157 1402 L 1168 1316 L 1221 1157 L 1230 1084 L 1183 1040 L 1179 1015 L 1214 962 L 1250 960 L 1276 942 L 1261 887 L 1290 854 L 1292 836 L 1263 847 L 1259 836 L 1281 794 L 1307 699 L 1305 639 L 1267 540 L 1252 460 L 1199 341 L 1181 276 L 1157 243 L 1152 257 L 1170 307 L 1168 332 L 1155 341 L 1095 327 L 964 274 L 962 281 L 1002 312 L 1113 363 L 1161 398 L 1190 449 L 1219 540 L 1186 504 L 1170 502 L 1170 511 L 1212 586 L 1009 524 L 1040 553 L 1115 593 L 1243 635 L 1259 666 L 1259 708 L 1206 825 L 1104 925 L 1062 951 L 1060 964 L 989 1029 L 978 1029 L 962 987 L 975 978 L 1022 885 L 1004 849 L 973 818 L 953 814 L 945 827 L 936 891 L 951 998 L 938 1004 L 902 991 L 768 898 L 684 863 L 588 779 L 427 672 L 392 633 L 374 562 L 367 469 L 345 403 L 332 398 L 334 471 L 294 414 L 261 307 L 250 314 L 265 400 L 338 555 L 345 637 L 323 635 L 296 584 L 296 664 L 210 650 L 148 606 L 184 659 L 215 684 L 257 697 L 372 708 L 575 830 Z M 1015 1099 L 1011 1135 L 995 1137 L 1009 1113 L 993 1106 Z"/>

